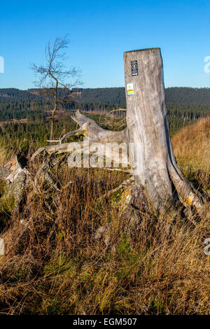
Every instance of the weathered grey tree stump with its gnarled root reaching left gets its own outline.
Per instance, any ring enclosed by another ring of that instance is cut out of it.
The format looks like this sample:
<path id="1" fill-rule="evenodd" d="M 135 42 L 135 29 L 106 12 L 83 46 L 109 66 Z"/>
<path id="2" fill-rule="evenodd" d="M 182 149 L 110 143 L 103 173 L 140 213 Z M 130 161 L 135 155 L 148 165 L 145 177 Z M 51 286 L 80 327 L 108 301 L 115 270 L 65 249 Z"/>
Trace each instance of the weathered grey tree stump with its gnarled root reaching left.
<path id="1" fill-rule="evenodd" d="M 174 207 L 175 194 L 183 205 L 194 206 L 200 211 L 204 204 L 202 196 L 186 181 L 174 158 L 167 123 L 160 48 L 125 52 L 124 64 L 127 128 L 121 132 L 104 130 L 77 111 L 72 119 L 80 129 L 54 140 L 59 143 L 57 145 L 39 148 L 31 160 L 43 151 L 69 152 L 70 144 L 62 142 L 75 135 L 87 137 L 90 145 L 96 141 L 102 145 L 125 142 L 130 146 L 130 167 L 137 188 L 144 188 L 148 202 L 158 214 L 163 209 Z"/>

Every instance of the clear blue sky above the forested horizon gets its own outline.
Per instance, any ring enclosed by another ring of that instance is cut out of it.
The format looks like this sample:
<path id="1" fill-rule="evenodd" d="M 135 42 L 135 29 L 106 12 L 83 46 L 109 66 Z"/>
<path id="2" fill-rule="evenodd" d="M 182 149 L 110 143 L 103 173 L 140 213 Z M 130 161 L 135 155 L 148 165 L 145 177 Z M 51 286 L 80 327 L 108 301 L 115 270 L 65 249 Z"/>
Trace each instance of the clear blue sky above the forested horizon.
<path id="1" fill-rule="evenodd" d="M 83 87 L 123 86 L 123 52 L 151 47 L 161 48 L 167 87 L 210 87 L 209 31 L 209 0 L 1 1 L 0 87 L 34 87 L 29 64 L 43 64 L 45 43 L 65 34 Z"/>

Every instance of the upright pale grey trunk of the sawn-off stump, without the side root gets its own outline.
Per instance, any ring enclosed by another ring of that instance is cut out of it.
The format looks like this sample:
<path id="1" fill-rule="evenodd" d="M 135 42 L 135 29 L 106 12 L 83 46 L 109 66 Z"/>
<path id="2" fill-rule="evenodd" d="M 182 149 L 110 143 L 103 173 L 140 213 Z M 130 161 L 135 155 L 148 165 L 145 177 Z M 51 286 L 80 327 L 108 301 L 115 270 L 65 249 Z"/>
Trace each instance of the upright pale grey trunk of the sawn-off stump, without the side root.
<path id="1" fill-rule="evenodd" d="M 138 66 L 133 72 L 132 61 L 137 61 L 135 64 Z M 164 205 L 173 204 L 172 183 L 184 204 L 202 207 L 200 196 L 186 181 L 174 158 L 167 123 L 160 48 L 125 52 L 124 65 L 128 142 L 135 146 L 130 148 L 135 183 L 144 186 L 148 200 L 158 211 Z"/>

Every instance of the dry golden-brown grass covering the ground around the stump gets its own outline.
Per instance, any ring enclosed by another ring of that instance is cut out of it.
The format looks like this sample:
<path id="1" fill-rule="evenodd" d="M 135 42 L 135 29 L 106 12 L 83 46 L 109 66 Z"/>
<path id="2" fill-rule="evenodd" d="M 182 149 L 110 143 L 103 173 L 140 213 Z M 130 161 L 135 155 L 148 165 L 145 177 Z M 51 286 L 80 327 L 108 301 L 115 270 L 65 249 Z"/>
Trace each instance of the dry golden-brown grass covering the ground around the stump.
<path id="1" fill-rule="evenodd" d="M 200 121 L 173 137 L 182 169 L 188 172 L 190 163 L 191 176 L 203 186 L 197 174 L 202 169 L 206 188 L 209 126 L 209 119 Z M 5 228 L 0 314 L 210 313 L 207 218 L 195 227 L 180 210 L 171 235 L 168 223 L 147 213 L 136 226 L 128 225 L 123 191 L 105 196 L 126 174 L 64 166 L 55 177 L 61 193 L 43 182 L 40 193 L 28 196 Z M 95 240 L 94 232 L 107 224 L 106 235 Z"/>

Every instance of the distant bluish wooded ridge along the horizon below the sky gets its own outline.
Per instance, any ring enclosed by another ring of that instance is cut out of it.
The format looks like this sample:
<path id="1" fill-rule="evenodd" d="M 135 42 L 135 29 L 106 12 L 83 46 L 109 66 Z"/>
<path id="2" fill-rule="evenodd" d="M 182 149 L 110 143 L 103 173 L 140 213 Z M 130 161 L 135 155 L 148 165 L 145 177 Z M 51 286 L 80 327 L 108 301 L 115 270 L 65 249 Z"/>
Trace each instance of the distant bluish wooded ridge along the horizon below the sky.
<path id="1" fill-rule="evenodd" d="M 62 90 L 60 92 L 62 93 Z M 72 92 L 83 103 L 125 106 L 125 87 L 77 88 Z M 169 87 L 165 92 L 168 103 L 210 105 L 210 88 Z M 41 89 L 0 89 L 0 100 L 23 101 L 43 98 L 45 97 Z"/>

